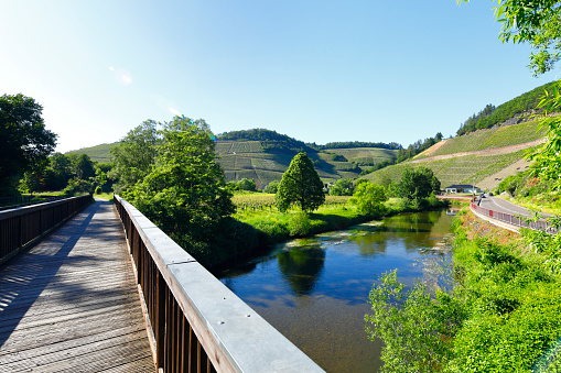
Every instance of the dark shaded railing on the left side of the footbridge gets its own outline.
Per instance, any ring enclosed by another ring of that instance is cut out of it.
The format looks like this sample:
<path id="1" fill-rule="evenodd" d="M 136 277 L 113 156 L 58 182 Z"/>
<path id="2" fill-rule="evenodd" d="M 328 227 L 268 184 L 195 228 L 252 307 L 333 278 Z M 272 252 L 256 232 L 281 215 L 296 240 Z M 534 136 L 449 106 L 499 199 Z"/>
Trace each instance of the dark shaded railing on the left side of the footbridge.
<path id="1" fill-rule="evenodd" d="M 0 211 L 0 264 L 91 202 L 89 195 Z"/>

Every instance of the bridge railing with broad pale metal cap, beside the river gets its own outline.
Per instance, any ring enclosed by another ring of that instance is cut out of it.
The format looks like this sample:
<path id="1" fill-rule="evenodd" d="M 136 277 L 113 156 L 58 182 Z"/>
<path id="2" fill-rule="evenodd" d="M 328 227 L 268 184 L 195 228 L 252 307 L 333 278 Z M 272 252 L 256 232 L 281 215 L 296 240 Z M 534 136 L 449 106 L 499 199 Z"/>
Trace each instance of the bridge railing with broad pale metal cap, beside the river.
<path id="1" fill-rule="evenodd" d="M 323 372 L 132 205 L 114 200 L 159 370 Z"/>

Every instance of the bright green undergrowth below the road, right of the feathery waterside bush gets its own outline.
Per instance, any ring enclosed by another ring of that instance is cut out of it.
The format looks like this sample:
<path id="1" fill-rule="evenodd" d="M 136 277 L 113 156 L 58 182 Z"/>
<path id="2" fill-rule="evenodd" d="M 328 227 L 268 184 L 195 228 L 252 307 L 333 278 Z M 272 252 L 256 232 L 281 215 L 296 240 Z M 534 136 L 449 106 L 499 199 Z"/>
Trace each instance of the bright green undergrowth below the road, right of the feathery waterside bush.
<path id="1" fill-rule="evenodd" d="M 454 265 L 466 315 L 453 341 L 460 371 L 558 372 L 539 370 L 561 336 L 561 277 L 550 260 L 527 239 L 458 219 Z"/>

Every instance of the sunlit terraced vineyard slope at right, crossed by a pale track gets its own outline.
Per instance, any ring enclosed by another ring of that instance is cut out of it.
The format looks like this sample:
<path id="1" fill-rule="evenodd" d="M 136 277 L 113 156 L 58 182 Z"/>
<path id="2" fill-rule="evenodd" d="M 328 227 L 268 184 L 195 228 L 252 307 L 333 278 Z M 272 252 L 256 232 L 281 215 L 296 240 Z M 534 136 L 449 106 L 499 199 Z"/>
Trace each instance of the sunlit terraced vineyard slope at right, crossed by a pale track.
<path id="1" fill-rule="evenodd" d="M 528 168 L 527 152 L 543 141 L 537 122 L 478 130 L 444 140 L 413 160 L 376 171 L 365 178 L 387 184 L 398 182 L 404 167 L 427 166 L 441 180 L 442 188 L 452 184 L 475 184 L 493 189 L 506 176 Z"/>

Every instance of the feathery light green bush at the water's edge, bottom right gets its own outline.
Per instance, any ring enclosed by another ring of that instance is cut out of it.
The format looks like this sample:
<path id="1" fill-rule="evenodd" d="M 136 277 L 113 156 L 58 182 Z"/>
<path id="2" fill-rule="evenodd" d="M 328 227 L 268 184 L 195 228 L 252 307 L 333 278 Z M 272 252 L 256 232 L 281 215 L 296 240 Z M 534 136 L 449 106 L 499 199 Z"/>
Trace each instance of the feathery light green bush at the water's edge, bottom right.
<path id="1" fill-rule="evenodd" d="M 417 283 L 407 294 L 397 272 L 379 278 L 368 297 L 371 314 L 365 316 L 368 338 L 385 342 L 382 372 L 434 372 L 452 358 L 452 340 L 465 318 L 463 304 Z"/>

